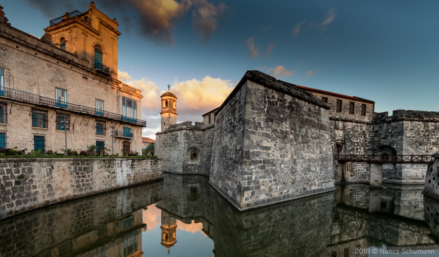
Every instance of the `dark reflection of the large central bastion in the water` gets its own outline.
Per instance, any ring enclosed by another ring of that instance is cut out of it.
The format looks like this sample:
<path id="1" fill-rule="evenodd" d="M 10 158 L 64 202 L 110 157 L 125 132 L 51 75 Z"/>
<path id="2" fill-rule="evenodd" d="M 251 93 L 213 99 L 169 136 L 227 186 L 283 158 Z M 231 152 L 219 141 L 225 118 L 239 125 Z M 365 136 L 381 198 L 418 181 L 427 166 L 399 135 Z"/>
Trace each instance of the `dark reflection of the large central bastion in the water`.
<path id="1" fill-rule="evenodd" d="M 333 193 L 243 213 L 213 189 L 211 198 L 217 257 L 323 256 L 326 251 Z"/>

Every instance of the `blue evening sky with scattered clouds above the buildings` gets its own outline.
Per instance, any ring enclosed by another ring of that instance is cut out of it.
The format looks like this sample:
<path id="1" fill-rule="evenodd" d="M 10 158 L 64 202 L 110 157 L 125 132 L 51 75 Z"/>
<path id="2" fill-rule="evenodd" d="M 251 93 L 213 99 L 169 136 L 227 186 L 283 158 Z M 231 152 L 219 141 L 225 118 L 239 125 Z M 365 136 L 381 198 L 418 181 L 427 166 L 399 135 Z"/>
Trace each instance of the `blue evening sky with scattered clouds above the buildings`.
<path id="1" fill-rule="evenodd" d="M 42 36 L 84 0 L 1 3 Z M 119 22 L 119 80 L 143 91 L 143 135 L 160 131 L 160 94 L 177 122 L 202 121 L 247 70 L 375 101 L 375 112 L 439 111 L 439 1 L 95 0 Z"/>

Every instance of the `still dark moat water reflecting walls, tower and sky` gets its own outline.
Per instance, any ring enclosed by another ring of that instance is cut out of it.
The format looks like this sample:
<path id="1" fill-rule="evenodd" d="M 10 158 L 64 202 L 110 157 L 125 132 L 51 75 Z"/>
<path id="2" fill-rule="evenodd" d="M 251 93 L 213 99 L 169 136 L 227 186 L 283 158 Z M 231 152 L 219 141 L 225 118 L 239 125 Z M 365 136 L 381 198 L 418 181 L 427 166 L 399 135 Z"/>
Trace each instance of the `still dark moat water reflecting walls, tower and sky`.
<path id="1" fill-rule="evenodd" d="M 349 184 L 239 213 L 208 181 L 164 174 L 13 217 L 0 223 L 0 257 L 345 257 L 356 246 L 438 246 L 439 201 L 423 186 Z"/>

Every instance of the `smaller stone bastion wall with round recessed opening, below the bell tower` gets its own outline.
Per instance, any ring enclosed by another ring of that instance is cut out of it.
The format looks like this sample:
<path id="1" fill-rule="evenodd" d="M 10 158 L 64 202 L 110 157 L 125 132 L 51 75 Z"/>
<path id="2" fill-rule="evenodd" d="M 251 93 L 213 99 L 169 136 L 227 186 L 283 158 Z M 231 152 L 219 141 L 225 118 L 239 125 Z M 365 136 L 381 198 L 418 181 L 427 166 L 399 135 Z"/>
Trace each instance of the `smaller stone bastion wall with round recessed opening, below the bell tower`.
<path id="1" fill-rule="evenodd" d="M 163 159 L 163 171 L 209 176 L 214 127 L 215 124 L 203 127 L 201 122 L 192 125 L 187 121 L 158 132 L 155 155 Z M 194 153 L 196 158 L 192 156 Z"/>

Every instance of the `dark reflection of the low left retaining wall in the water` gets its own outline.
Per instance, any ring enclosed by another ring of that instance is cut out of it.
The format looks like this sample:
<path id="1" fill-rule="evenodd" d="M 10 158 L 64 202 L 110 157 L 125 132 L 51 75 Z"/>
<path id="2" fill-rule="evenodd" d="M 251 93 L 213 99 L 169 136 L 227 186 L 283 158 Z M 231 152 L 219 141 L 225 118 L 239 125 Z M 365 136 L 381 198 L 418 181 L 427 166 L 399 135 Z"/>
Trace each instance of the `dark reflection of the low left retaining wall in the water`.
<path id="1" fill-rule="evenodd" d="M 162 181 L 157 181 L 11 218 L 0 223 L 0 253 L 3 256 L 16 256 L 19 253 L 25 256 L 42 255 L 58 244 L 72 249 L 75 240 L 71 238 L 92 238 L 89 235 L 94 233 L 106 233 L 108 237 L 112 233 L 108 228 L 112 225 L 108 223 L 113 221 L 114 224 L 122 224 L 121 232 L 126 231 L 128 227 L 123 229 L 124 222 L 128 222 L 126 218 L 133 217 L 133 224 L 141 224 L 141 211 L 137 213 L 136 210 L 155 203 L 161 195 Z M 107 225 L 103 228 L 102 224 Z M 11 238 L 14 240 L 8 240 Z M 79 243 L 77 245 L 79 247 Z"/>

